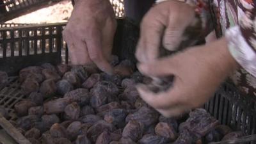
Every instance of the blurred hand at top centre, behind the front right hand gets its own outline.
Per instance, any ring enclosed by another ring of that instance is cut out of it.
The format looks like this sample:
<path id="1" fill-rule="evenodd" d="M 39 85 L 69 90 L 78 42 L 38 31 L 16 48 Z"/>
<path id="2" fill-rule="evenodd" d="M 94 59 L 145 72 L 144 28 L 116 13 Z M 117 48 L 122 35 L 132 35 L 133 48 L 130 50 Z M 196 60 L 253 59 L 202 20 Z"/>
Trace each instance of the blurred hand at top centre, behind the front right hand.
<path id="1" fill-rule="evenodd" d="M 169 51 L 177 50 L 184 40 L 184 30 L 198 24 L 197 20 L 194 8 L 180 1 L 165 1 L 152 7 L 141 22 L 136 58 L 141 63 L 155 60 L 161 43 Z"/>

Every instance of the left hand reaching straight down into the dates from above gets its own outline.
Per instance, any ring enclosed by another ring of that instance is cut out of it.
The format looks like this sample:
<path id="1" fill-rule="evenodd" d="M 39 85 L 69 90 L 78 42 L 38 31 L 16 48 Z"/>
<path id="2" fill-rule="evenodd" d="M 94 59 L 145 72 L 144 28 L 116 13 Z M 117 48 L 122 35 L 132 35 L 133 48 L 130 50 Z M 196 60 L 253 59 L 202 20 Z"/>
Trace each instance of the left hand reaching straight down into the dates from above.
<path id="1" fill-rule="evenodd" d="M 113 74 L 111 51 L 116 31 L 115 13 L 106 0 L 76 0 L 74 10 L 63 31 L 73 65 L 94 63 Z"/>

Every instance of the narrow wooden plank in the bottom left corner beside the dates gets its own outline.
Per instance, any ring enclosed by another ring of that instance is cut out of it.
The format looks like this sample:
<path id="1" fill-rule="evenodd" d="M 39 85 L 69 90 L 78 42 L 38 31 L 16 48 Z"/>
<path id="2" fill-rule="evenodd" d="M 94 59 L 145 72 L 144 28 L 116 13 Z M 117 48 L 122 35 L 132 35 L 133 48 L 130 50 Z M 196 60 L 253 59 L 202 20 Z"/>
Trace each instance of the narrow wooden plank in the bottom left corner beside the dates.
<path id="1" fill-rule="evenodd" d="M 0 114 L 0 125 L 19 144 L 31 144 L 13 125 Z"/>

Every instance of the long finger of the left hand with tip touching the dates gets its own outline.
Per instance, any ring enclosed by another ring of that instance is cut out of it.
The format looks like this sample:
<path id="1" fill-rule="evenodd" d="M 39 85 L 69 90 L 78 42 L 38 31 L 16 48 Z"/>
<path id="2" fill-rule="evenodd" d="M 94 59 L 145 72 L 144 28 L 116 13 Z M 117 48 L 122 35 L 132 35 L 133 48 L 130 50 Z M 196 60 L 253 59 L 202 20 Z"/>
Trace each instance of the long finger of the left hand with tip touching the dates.
<path id="1" fill-rule="evenodd" d="M 110 63 L 104 58 L 102 53 L 102 33 L 97 26 L 93 26 L 88 31 L 88 37 L 86 38 L 86 44 L 88 47 L 88 53 L 91 60 L 100 68 L 103 72 L 113 74 L 113 68 Z"/>

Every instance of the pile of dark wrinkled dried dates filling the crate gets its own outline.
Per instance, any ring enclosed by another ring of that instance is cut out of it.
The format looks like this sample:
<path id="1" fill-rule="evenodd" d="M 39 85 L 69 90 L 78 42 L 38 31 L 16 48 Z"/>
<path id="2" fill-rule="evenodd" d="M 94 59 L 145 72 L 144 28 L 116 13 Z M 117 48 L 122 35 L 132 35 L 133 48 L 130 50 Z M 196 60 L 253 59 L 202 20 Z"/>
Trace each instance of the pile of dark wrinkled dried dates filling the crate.
<path id="1" fill-rule="evenodd" d="M 49 63 L 20 70 L 20 89 L 28 99 L 15 104 L 19 118 L 10 122 L 33 144 L 200 144 L 243 136 L 204 109 L 161 116 L 135 88 L 150 79 L 127 60 L 112 64 L 133 72 L 110 76 L 93 67 Z"/>

